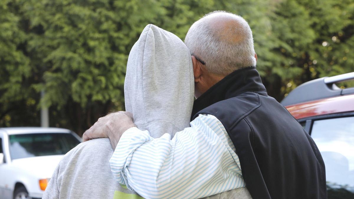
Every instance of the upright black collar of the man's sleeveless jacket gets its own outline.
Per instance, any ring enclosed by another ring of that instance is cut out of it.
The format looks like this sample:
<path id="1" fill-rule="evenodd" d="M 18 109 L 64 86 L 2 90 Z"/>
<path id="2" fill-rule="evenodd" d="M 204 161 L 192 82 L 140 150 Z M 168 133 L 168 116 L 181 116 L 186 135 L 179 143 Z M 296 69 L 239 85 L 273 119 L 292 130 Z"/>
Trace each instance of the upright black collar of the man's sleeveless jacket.
<path id="1" fill-rule="evenodd" d="M 261 77 L 256 67 L 236 70 L 210 87 L 209 90 L 194 101 L 192 118 L 200 110 L 216 102 L 236 97 L 241 93 L 249 91 L 261 92 L 260 94 L 267 96 L 267 90 L 262 84 Z"/>

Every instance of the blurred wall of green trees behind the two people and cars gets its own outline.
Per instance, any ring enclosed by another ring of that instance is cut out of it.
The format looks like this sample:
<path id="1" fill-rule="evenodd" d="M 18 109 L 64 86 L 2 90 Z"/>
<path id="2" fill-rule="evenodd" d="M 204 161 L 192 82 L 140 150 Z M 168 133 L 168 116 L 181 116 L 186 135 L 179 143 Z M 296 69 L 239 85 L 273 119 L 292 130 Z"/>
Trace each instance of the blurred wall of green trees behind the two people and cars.
<path id="1" fill-rule="evenodd" d="M 214 10 L 249 22 L 258 71 L 278 101 L 354 71 L 353 0 L 0 0 L 0 126 L 40 126 L 42 109 L 49 126 L 81 136 L 124 110 L 126 62 L 145 25 L 183 40 Z"/>

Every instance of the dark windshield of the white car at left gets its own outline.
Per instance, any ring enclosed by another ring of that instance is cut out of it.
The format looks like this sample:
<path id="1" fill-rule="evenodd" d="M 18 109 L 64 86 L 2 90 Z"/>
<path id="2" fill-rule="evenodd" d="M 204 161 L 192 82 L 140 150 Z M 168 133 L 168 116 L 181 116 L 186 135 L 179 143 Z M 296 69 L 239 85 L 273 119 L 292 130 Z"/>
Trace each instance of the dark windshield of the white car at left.
<path id="1" fill-rule="evenodd" d="M 80 141 L 70 133 L 32 133 L 10 135 L 11 159 L 42 155 L 62 155 Z"/>

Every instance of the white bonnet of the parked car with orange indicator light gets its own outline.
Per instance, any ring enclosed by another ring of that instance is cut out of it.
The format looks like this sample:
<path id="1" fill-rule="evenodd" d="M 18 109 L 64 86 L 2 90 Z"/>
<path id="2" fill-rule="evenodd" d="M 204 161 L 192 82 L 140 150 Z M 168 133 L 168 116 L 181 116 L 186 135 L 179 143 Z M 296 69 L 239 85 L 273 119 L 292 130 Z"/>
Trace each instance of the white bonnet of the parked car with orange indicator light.
<path id="1" fill-rule="evenodd" d="M 50 178 L 64 155 L 45 155 L 19 158 L 11 161 L 12 166 L 38 178 Z"/>

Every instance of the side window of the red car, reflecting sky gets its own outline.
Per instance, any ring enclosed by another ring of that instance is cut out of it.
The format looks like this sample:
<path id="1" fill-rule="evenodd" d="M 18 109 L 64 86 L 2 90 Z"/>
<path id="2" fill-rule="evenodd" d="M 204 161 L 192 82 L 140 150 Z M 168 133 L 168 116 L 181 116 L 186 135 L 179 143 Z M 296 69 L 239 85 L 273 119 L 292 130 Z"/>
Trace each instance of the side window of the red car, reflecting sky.
<path id="1" fill-rule="evenodd" d="M 354 117 L 314 121 L 311 136 L 325 162 L 328 188 L 354 192 Z"/>

